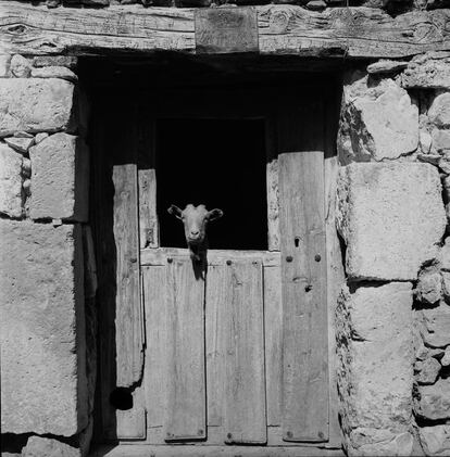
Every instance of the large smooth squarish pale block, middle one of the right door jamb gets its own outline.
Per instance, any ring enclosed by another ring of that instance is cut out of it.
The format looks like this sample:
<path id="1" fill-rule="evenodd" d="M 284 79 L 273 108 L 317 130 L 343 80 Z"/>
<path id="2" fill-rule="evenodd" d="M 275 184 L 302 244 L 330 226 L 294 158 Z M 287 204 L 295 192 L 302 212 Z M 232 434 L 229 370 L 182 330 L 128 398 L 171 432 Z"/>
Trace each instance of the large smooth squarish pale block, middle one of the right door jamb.
<path id="1" fill-rule="evenodd" d="M 337 226 L 350 278 L 415 280 L 446 228 L 438 170 L 425 163 L 342 167 Z"/>

